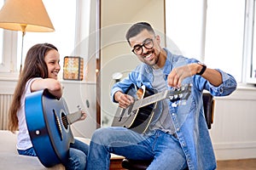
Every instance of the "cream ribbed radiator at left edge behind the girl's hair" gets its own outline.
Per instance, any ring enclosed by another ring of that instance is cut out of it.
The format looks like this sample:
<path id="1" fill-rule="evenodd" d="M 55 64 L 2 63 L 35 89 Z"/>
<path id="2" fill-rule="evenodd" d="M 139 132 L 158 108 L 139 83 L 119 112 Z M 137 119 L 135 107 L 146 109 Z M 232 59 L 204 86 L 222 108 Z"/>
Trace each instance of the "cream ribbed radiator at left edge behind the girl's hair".
<path id="1" fill-rule="evenodd" d="M 7 130 L 8 111 L 12 97 L 12 94 L 0 94 L 0 130 Z"/>

